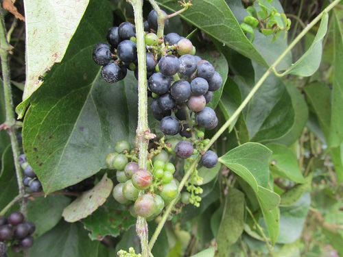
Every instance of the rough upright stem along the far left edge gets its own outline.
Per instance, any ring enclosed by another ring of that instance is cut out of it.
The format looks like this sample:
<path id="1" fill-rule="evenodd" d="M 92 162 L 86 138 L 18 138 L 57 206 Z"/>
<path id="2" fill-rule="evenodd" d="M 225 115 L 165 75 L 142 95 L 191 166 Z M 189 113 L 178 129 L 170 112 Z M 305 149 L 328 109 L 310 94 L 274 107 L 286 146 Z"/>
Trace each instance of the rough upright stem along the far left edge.
<path id="1" fill-rule="evenodd" d="M 8 134 L 10 135 L 14 166 L 16 169 L 16 179 L 18 181 L 19 196 L 23 197 L 25 195 L 25 186 L 23 185 L 23 173 L 21 171 L 21 166 L 18 161 L 19 157 L 19 143 L 16 138 L 16 119 L 14 114 L 14 106 L 12 101 L 12 88 L 10 82 L 10 66 L 9 66 L 9 56 L 8 52 L 12 50 L 10 46 L 5 29 L 5 22 L 3 20 L 3 13 L 1 11 L 0 5 L 0 58 L 1 58 L 1 67 L 3 74 L 3 95 L 5 96 L 5 127 L 8 128 Z M 27 217 L 27 201 L 23 198 L 21 200 L 21 212 Z"/>

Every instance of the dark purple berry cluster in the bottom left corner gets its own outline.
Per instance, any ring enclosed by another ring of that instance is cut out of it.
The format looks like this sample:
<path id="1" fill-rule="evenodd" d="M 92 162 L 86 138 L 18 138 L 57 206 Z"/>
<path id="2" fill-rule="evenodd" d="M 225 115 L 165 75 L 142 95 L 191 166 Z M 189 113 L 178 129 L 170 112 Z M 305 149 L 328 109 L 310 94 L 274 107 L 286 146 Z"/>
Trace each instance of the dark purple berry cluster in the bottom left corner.
<path id="1" fill-rule="evenodd" d="M 12 212 L 8 217 L 0 216 L 0 256 L 6 256 L 8 246 L 16 253 L 32 247 L 35 230 L 36 225 L 32 221 L 25 221 L 21 212 Z"/>

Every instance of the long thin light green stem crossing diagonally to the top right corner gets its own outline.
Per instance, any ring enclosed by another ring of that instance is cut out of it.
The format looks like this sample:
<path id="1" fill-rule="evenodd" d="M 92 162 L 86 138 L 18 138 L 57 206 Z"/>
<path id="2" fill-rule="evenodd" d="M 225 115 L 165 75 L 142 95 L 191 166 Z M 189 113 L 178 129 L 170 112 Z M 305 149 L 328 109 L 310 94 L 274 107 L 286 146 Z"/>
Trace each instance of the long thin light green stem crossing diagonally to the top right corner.
<path id="1" fill-rule="evenodd" d="M 250 93 L 246 96 L 246 99 L 244 99 L 244 101 L 242 101 L 241 105 L 237 108 L 237 110 L 235 110 L 235 112 L 233 113 L 233 115 L 228 119 L 228 121 L 226 121 L 226 123 L 224 123 L 224 125 L 222 125 L 222 127 L 220 127 L 220 130 L 217 131 L 217 133 L 215 133 L 215 135 L 211 138 L 211 140 L 209 141 L 209 144 L 206 145 L 206 147 L 204 147 L 204 151 L 207 151 L 212 145 L 213 143 L 215 143 L 215 140 L 217 140 L 228 128 L 228 126 L 233 123 L 233 121 L 235 121 L 235 119 L 239 116 L 239 114 L 241 113 L 241 111 L 247 106 L 248 102 L 252 99 L 252 97 L 255 95 L 255 93 L 257 92 L 257 90 L 259 90 L 259 88 L 262 86 L 263 82 L 265 81 L 265 79 L 267 79 L 267 77 L 270 75 L 270 73 L 272 73 L 273 71 L 275 71 L 275 67 L 281 62 L 281 60 L 283 60 L 283 58 L 285 58 L 285 56 L 287 55 L 287 53 L 289 51 L 292 50 L 292 48 L 294 47 L 294 45 L 296 45 L 297 42 L 299 42 L 299 40 L 301 38 L 303 38 L 303 36 L 305 36 L 305 34 L 307 32 L 309 32 L 309 29 L 311 29 L 312 27 L 314 27 L 314 25 L 316 25 L 316 23 L 318 21 L 320 21 L 320 19 L 322 19 L 322 16 L 324 14 L 326 14 L 327 12 L 329 12 L 329 10 L 331 10 L 335 5 L 337 5 L 341 0 L 335 0 L 333 1 L 330 5 L 327 6 L 327 8 L 325 8 L 318 16 L 316 16 L 316 18 L 311 21 L 311 23 L 309 23 L 309 25 L 307 25 L 307 27 L 305 27 L 305 29 L 303 30 L 303 32 L 301 32 L 295 39 L 294 41 L 289 44 L 289 46 L 287 47 L 287 49 L 285 49 L 285 51 L 283 51 L 283 53 L 281 53 L 281 56 L 279 56 L 279 58 L 269 67 L 269 69 L 267 71 L 265 71 L 265 73 L 263 74 L 263 76 L 259 79 L 259 81 L 257 82 L 257 84 L 255 84 L 255 86 L 252 88 L 252 90 L 250 91 Z M 200 160 L 200 156 L 198 156 L 196 158 L 196 160 L 194 160 L 194 162 L 191 164 L 191 167 L 189 167 L 189 170 L 187 171 L 187 173 L 185 174 L 185 176 L 182 178 L 181 182 L 180 182 L 180 186 L 178 187 L 178 191 L 179 193 L 182 191 L 183 186 L 185 186 L 187 180 L 189 179 L 189 176 L 191 175 L 191 173 L 194 171 L 194 169 L 196 169 L 196 166 Z M 171 203 L 169 204 L 169 206 L 167 207 L 167 210 L 165 211 L 165 214 L 162 217 L 161 222 L 158 224 L 156 230 L 154 231 L 154 234 L 152 235 L 152 238 L 150 240 L 149 243 L 149 249 L 152 249 L 152 247 L 154 246 L 154 243 L 156 242 L 156 239 L 158 237 L 158 234 L 161 233 L 161 230 L 163 229 L 163 225 L 165 224 L 165 221 L 167 221 L 167 217 L 169 215 L 169 213 L 171 212 L 171 208 L 173 208 L 174 204 L 176 203 L 176 199 L 178 197 L 176 197 L 174 200 L 171 201 Z"/>

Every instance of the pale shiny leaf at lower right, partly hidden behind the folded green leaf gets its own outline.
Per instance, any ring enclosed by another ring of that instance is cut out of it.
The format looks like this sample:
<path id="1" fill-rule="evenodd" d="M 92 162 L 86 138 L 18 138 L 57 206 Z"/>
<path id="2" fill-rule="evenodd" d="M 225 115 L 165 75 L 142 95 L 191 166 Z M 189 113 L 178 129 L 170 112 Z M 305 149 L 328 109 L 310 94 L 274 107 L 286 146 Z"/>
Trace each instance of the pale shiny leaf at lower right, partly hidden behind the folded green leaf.
<path id="1" fill-rule="evenodd" d="M 303 232 L 311 198 L 309 193 L 296 201 L 292 206 L 280 207 L 280 233 L 277 243 L 294 243 Z"/>

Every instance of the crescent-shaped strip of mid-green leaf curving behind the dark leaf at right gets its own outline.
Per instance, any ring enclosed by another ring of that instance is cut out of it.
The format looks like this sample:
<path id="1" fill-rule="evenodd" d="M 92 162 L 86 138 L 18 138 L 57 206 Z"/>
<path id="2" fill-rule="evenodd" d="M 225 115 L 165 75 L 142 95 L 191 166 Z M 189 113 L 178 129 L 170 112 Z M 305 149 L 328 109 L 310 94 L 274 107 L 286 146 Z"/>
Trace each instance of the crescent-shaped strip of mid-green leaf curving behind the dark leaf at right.
<path id="1" fill-rule="evenodd" d="M 290 146 L 296 140 L 298 140 L 299 136 L 303 132 L 307 119 L 309 117 L 309 108 L 307 107 L 307 103 L 303 95 L 300 94 L 298 88 L 296 88 L 294 84 L 286 84 L 286 89 L 292 100 L 292 106 L 295 115 L 294 123 L 285 135 L 276 140 L 272 140 L 270 143 L 279 143 L 281 145 Z"/>

